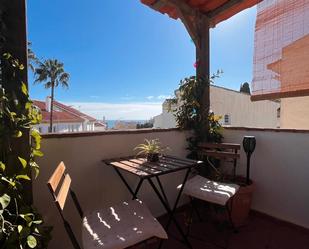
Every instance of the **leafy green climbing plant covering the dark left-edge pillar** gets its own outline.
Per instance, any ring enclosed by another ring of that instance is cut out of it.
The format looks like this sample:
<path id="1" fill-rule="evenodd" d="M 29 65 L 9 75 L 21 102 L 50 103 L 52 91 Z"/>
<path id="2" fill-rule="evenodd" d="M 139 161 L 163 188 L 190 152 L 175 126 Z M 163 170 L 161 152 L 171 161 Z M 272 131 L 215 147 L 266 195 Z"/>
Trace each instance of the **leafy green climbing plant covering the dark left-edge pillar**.
<path id="1" fill-rule="evenodd" d="M 39 174 L 41 136 L 33 128 L 41 120 L 22 82 L 24 66 L 10 54 L 1 57 L 0 74 L 0 247 L 47 248 L 50 227 L 29 202 L 31 181 Z M 20 145 L 30 150 L 20 155 Z"/>

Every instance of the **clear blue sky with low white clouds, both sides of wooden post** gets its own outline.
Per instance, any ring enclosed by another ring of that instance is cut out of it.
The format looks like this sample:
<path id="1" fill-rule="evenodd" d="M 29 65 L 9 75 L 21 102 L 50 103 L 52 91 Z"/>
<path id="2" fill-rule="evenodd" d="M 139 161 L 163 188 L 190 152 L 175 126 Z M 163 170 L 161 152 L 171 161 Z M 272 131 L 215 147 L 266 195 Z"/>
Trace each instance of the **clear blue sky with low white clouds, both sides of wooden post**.
<path id="1" fill-rule="evenodd" d="M 211 31 L 211 71 L 216 84 L 239 89 L 252 79 L 256 9 L 243 11 Z M 139 0 L 31 0 L 28 33 L 39 58 L 57 58 L 70 88 L 56 99 L 97 118 L 147 119 L 179 81 L 194 75 L 195 47 L 183 24 Z M 29 85 L 31 97 L 49 91 Z"/>

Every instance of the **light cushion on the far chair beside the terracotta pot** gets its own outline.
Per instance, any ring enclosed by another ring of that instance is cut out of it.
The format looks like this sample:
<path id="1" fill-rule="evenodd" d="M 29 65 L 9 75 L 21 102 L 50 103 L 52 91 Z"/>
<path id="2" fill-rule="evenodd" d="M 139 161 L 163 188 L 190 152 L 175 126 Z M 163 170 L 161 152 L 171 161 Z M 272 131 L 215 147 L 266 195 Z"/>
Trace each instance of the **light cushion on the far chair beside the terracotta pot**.
<path id="1" fill-rule="evenodd" d="M 215 182 L 197 175 L 187 181 L 183 192 L 194 198 L 224 206 L 238 189 L 237 184 Z"/>

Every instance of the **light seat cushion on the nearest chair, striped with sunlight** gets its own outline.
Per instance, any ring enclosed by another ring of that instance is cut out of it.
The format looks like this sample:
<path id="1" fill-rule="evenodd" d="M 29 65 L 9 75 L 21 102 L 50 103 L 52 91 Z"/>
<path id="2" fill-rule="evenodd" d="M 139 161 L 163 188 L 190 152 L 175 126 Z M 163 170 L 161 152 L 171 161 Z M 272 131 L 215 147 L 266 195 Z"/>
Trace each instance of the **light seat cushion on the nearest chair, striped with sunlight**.
<path id="1" fill-rule="evenodd" d="M 161 224 L 140 200 L 87 214 L 82 236 L 85 249 L 120 249 L 152 237 L 167 239 Z"/>

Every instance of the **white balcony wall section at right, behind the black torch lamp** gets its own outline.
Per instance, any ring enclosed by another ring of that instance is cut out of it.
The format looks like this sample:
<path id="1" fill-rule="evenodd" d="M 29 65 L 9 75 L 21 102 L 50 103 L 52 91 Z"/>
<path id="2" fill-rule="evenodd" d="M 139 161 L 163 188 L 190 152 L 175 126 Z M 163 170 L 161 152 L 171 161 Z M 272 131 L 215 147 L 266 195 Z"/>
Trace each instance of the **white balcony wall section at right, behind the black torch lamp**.
<path id="1" fill-rule="evenodd" d="M 256 183 L 252 208 L 270 216 L 309 228 L 309 133 L 226 129 L 225 141 L 242 143 L 256 137 L 251 178 Z M 245 174 L 241 151 L 238 173 Z"/>

